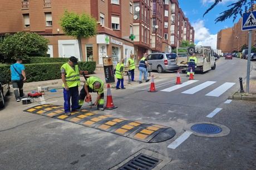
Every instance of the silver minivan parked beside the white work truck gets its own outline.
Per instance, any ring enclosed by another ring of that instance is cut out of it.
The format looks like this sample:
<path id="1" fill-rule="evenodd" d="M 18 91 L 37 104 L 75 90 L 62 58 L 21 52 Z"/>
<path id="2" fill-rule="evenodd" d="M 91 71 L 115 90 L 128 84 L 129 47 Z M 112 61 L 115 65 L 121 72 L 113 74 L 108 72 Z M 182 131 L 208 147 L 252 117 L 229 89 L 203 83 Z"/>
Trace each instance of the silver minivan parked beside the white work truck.
<path id="1" fill-rule="evenodd" d="M 163 73 L 166 70 L 178 70 L 176 65 L 177 54 L 175 53 L 152 53 L 147 56 L 147 61 L 152 70 Z"/>

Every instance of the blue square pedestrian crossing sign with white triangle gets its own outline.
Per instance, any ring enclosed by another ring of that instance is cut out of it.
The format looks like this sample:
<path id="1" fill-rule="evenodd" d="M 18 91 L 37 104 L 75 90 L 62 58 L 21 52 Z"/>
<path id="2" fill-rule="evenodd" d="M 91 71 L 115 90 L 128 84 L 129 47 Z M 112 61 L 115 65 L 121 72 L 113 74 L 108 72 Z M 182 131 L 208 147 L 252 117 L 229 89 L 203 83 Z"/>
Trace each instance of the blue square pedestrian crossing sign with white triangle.
<path id="1" fill-rule="evenodd" d="M 243 14 L 242 30 L 256 29 L 256 11 Z"/>

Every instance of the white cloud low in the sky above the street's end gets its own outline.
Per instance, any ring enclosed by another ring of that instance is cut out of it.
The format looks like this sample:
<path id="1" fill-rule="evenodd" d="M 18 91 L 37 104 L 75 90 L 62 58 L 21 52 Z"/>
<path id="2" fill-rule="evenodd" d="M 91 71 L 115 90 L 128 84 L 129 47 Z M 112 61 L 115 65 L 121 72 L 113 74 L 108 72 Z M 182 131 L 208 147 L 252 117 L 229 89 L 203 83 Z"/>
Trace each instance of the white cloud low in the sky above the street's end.
<path id="1" fill-rule="evenodd" d="M 209 29 L 205 27 L 204 20 L 198 20 L 192 23 L 195 30 L 195 44 L 203 46 L 211 46 L 216 49 L 217 34 L 210 34 Z"/>

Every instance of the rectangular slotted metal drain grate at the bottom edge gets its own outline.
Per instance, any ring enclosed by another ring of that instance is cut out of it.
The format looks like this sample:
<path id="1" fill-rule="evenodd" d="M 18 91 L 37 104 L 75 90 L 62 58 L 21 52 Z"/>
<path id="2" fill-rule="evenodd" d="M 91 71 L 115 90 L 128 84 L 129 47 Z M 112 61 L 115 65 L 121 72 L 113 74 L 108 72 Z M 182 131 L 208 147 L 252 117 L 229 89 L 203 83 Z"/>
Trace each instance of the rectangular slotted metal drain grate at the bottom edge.
<path id="1" fill-rule="evenodd" d="M 131 159 L 129 162 L 120 167 L 119 170 L 144 170 L 153 169 L 160 163 L 160 159 L 147 156 L 145 154 L 139 154 L 139 156 Z"/>

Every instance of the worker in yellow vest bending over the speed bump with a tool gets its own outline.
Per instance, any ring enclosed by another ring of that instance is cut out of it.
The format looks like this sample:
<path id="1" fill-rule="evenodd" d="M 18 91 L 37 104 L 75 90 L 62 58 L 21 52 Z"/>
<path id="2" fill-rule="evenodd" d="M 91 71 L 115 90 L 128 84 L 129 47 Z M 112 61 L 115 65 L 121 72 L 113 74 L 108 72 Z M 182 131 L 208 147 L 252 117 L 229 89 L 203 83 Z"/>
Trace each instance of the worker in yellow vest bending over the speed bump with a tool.
<path id="1" fill-rule="evenodd" d="M 82 107 L 85 97 L 91 99 L 90 92 L 97 92 L 97 99 L 94 105 L 97 106 L 98 110 L 104 111 L 104 82 L 96 76 L 86 78 L 85 85 L 79 95 L 79 107 Z"/>

